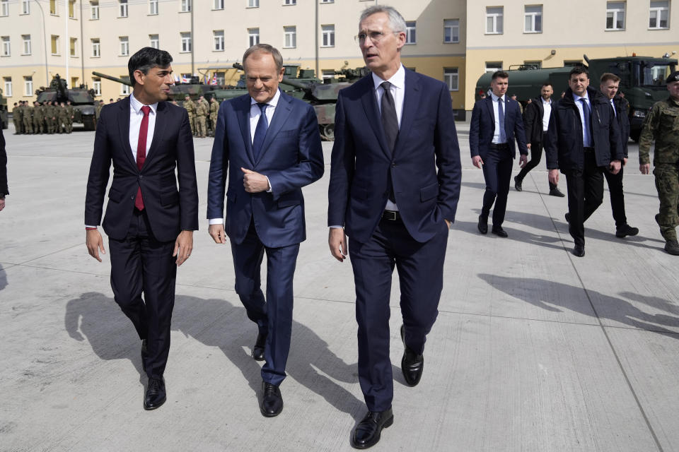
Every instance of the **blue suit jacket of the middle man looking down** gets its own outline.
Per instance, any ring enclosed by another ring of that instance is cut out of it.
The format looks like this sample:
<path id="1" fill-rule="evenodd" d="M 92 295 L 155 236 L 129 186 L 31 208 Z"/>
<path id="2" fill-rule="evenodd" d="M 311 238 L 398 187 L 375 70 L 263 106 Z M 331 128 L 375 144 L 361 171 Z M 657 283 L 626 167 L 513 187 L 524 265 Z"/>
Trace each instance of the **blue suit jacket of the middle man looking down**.
<path id="1" fill-rule="evenodd" d="M 254 220 L 257 236 L 269 248 L 306 239 L 302 187 L 323 176 L 323 149 L 313 107 L 285 93 L 281 96 L 255 161 L 250 138 L 250 95 L 222 102 L 217 115 L 207 189 L 207 218 L 224 215 L 224 229 L 237 244 Z M 269 178 L 272 193 L 251 194 L 240 167 Z M 227 177 L 228 176 L 228 177 Z"/>

